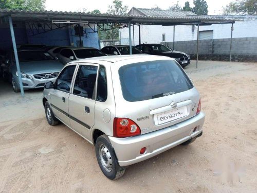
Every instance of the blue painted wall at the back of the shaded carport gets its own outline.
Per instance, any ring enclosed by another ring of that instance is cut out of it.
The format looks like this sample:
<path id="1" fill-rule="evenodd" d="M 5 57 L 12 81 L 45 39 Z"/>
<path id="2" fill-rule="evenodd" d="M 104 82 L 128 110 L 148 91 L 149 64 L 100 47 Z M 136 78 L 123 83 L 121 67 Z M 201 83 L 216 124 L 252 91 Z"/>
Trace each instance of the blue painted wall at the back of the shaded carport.
<path id="1" fill-rule="evenodd" d="M 45 44 L 45 45 L 56 45 L 56 46 L 75 46 L 78 47 L 77 41 L 79 37 L 75 36 L 74 28 L 63 27 L 60 29 L 54 29 L 45 33 L 36 34 L 32 36 L 32 32 L 28 25 L 25 23 L 13 22 L 16 27 L 14 27 L 15 40 L 16 44 Z M 38 33 L 33 29 L 35 33 Z M 84 29 L 86 32 L 91 32 L 90 28 Z M 40 32 L 43 32 L 43 29 L 39 29 Z M 97 33 L 84 34 L 82 37 L 83 46 L 95 47 L 98 46 L 98 35 Z M 11 34 L 9 24 L 0 24 L 0 49 L 9 49 L 12 47 Z"/>

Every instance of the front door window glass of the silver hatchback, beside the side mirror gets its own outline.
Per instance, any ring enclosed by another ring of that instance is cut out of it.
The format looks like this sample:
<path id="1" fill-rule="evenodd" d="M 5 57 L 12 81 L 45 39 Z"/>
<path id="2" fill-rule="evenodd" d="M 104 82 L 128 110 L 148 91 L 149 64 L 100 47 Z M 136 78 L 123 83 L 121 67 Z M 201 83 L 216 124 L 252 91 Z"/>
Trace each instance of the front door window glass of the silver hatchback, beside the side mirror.
<path id="1" fill-rule="evenodd" d="M 58 76 L 54 84 L 55 89 L 63 92 L 69 92 L 71 80 L 72 80 L 75 68 L 76 68 L 76 65 L 70 65 L 63 69 L 63 71 Z"/>

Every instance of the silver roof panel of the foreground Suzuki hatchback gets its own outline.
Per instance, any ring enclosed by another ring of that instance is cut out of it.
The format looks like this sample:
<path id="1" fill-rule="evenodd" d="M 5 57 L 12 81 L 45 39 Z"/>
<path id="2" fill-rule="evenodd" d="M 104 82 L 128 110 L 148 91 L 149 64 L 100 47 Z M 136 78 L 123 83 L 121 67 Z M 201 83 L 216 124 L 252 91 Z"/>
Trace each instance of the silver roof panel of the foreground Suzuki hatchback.
<path id="1" fill-rule="evenodd" d="M 149 61 L 149 59 L 152 60 L 174 60 L 170 57 L 166 56 L 152 56 L 152 55 L 115 55 L 115 56 L 101 56 L 101 57 L 94 57 L 94 58 L 87 58 L 87 59 L 80 59 L 79 62 L 91 62 L 91 61 L 105 61 L 109 63 L 115 63 L 119 61 L 124 61 L 124 60 L 134 60 L 138 59 L 139 61 Z M 78 61 L 74 61 L 71 63 L 78 63 Z"/>

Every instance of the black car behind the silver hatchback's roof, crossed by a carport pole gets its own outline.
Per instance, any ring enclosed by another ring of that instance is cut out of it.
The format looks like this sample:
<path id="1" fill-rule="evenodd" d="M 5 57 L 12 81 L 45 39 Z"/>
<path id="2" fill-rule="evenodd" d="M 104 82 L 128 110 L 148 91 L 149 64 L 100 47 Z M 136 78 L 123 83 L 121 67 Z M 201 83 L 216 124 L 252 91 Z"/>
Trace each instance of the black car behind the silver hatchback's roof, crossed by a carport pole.
<path id="1" fill-rule="evenodd" d="M 127 45 L 114 45 L 105 46 L 101 49 L 107 55 L 129 55 L 130 46 Z M 132 54 L 142 54 L 143 52 L 136 47 L 132 46 Z"/>

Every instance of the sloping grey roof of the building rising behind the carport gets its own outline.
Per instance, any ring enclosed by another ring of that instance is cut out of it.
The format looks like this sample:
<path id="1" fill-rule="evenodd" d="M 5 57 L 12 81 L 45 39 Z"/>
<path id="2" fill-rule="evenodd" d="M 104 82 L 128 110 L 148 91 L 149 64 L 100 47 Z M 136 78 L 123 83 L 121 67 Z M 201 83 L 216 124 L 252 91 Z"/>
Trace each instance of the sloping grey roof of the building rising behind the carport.
<path id="1" fill-rule="evenodd" d="M 144 8 L 135 8 L 135 7 L 133 7 L 130 12 L 132 12 L 133 9 L 141 12 L 144 16 L 185 17 L 189 15 L 196 15 L 191 11 L 168 11 L 168 10 L 144 9 Z"/>

